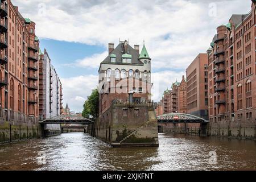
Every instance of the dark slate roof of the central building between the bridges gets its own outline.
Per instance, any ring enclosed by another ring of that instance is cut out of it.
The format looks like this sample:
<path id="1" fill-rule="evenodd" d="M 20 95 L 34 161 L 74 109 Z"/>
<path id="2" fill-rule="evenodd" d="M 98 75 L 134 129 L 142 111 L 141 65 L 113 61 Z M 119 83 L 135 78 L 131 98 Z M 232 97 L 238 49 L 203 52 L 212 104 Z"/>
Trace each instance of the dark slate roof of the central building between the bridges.
<path id="1" fill-rule="evenodd" d="M 131 55 L 131 63 L 128 64 L 139 64 L 143 65 L 142 61 L 139 60 L 139 53 L 131 47 L 129 44 L 127 45 L 127 54 Z M 115 63 L 111 63 L 110 55 L 116 55 L 117 58 Z M 101 63 L 108 63 L 108 64 L 127 64 L 122 63 L 122 56 L 125 55 L 125 50 L 123 49 L 123 43 L 119 43 L 118 46 L 114 49 L 114 51 L 108 55 Z"/>

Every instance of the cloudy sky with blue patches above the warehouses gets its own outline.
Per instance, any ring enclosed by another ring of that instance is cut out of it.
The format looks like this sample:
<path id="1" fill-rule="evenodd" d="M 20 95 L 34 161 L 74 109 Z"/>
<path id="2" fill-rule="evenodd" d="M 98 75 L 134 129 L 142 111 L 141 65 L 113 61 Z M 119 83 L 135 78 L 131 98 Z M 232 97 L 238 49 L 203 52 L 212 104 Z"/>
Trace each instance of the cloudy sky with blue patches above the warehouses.
<path id="1" fill-rule="evenodd" d="M 46 48 L 64 87 L 64 104 L 82 111 L 97 86 L 99 63 L 108 43 L 119 38 L 143 46 L 152 58 L 154 100 L 181 80 L 198 53 L 205 53 L 216 27 L 232 14 L 246 14 L 250 0 L 13 0 L 24 18 L 36 22 L 41 49 Z"/>

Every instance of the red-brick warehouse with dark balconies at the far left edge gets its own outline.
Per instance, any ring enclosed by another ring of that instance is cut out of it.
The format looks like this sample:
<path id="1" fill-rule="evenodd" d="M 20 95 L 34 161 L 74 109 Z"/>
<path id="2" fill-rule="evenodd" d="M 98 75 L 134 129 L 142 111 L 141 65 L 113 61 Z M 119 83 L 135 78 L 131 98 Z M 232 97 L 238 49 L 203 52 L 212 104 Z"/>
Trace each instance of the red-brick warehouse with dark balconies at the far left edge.
<path id="1" fill-rule="evenodd" d="M 11 1 L 1 1 L 0 140 L 35 137 L 38 129 L 38 47 L 35 23 L 20 15 Z M 8 130 L 6 130 L 8 129 Z"/>

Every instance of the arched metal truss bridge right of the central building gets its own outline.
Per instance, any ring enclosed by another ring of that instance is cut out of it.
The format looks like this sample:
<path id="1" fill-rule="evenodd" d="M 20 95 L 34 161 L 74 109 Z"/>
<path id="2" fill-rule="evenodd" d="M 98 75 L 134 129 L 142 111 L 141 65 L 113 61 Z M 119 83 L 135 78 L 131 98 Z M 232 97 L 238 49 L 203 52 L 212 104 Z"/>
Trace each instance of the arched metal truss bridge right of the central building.
<path id="1" fill-rule="evenodd" d="M 208 123 L 209 121 L 191 114 L 170 113 L 156 117 L 159 124 L 163 123 Z"/>

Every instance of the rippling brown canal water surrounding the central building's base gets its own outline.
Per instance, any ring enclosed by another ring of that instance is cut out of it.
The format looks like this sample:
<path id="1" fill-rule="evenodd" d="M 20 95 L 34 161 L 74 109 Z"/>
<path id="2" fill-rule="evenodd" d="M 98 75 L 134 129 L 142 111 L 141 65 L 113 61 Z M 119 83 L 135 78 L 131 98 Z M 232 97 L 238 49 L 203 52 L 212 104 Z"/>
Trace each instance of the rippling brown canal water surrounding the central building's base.
<path id="1" fill-rule="evenodd" d="M 159 134 L 159 143 L 112 148 L 83 133 L 32 139 L 1 145 L 0 170 L 256 170 L 254 140 Z"/>

